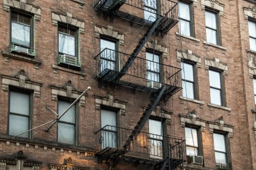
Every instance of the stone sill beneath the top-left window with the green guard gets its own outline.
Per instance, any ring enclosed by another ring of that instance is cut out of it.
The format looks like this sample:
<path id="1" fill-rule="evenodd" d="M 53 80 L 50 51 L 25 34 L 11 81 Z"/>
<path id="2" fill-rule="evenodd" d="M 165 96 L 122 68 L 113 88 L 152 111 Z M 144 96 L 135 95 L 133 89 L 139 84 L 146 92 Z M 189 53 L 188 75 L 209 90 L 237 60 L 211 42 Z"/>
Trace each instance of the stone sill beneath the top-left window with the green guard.
<path id="1" fill-rule="evenodd" d="M 4 61 L 5 62 L 10 62 L 9 58 L 13 58 L 13 59 L 16 59 L 16 60 L 21 60 L 21 61 L 24 61 L 24 62 L 33 63 L 35 69 L 39 69 L 39 65 L 42 64 L 41 61 L 35 60 L 34 58 L 24 57 L 22 55 L 13 54 L 13 53 L 7 52 L 7 51 L 2 51 L 2 55 L 4 56 Z"/>

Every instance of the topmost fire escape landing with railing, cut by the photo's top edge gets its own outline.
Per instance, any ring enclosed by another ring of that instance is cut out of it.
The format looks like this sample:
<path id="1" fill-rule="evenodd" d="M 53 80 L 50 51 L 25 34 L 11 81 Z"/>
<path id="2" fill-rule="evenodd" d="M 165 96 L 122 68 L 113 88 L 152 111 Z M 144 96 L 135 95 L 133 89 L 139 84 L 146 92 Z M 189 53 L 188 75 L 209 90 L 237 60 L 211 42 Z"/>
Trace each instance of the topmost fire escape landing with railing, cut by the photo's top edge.
<path id="1" fill-rule="evenodd" d="M 161 16 L 156 33 L 161 33 L 163 37 L 178 23 L 178 5 L 177 2 L 170 0 L 161 0 L 158 4 L 155 3 L 154 0 L 148 4 L 145 4 L 144 0 L 97 0 L 94 9 L 105 15 L 110 15 L 112 18 L 119 16 L 130 21 L 131 24 L 136 23 L 147 27 L 152 26 L 157 16 Z M 155 19 L 153 17 L 146 18 L 143 11 L 151 13 Z"/>

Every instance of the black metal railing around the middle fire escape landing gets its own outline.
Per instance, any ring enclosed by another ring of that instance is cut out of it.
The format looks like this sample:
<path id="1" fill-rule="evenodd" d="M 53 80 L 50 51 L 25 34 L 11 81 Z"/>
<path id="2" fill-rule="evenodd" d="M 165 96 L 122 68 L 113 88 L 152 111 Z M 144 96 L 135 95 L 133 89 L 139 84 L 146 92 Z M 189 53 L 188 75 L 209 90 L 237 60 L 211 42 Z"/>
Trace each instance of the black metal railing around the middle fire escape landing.
<path id="1" fill-rule="evenodd" d="M 105 48 L 95 57 L 96 77 L 111 82 L 119 74 L 129 57 L 129 54 Z M 106 76 L 106 74 L 111 74 L 111 76 Z M 181 88 L 181 69 L 164 65 L 159 60 L 136 57 L 121 80 L 152 88 L 154 88 L 152 84 L 156 87 L 165 84 Z"/>

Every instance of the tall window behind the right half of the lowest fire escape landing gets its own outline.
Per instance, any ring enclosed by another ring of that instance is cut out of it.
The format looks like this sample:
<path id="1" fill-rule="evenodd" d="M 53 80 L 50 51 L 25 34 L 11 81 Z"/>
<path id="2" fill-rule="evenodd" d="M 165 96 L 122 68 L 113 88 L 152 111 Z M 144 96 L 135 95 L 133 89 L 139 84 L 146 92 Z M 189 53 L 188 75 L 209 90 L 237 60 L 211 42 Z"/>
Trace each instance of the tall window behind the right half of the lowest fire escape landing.
<path id="1" fill-rule="evenodd" d="M 150 137 L 150 156 L 163 157 L 163 124 L 161 121 L 148 119 Z"/>

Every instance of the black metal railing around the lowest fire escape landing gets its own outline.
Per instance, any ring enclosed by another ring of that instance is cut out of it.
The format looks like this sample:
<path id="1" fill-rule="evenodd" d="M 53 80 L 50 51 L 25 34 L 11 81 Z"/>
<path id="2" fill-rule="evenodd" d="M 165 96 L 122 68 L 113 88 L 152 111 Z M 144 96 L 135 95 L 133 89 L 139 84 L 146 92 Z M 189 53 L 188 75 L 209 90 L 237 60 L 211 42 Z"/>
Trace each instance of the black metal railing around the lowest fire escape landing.
<path id="1" fill-rule="evenodd" d="M 124 147 L 131 134 L 133 139 L 130 146 Z M 127 154 L 145 158 L 169 158 L 180 162 L 185 159 L 185 140 L 175 136 L 162 136 L 107 125 L 95 132 L 95 142 L 97 153 L 108 147 L 120 150 L 126 148 Z"/>

